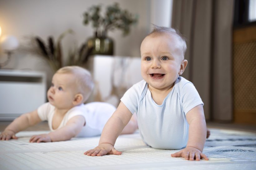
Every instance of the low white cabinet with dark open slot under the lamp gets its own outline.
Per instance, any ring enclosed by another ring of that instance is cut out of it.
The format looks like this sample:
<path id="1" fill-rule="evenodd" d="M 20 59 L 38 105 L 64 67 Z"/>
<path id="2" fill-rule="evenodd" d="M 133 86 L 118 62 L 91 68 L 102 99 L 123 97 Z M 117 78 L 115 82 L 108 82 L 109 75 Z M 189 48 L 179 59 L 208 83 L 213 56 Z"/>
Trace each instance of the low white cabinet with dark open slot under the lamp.
<path id="1" fill-rule="evenodd" d="M 0 121 L 10 121 L 46 102 L 46 74 L 0 70 Z"/>

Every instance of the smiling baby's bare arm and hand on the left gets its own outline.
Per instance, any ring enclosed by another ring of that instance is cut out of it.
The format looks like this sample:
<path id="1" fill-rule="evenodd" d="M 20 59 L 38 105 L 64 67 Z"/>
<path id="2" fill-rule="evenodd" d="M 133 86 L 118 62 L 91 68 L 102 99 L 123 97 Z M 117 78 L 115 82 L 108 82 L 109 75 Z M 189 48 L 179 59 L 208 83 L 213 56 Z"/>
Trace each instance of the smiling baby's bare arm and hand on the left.
<path id="1" fill-rule="evenodd" d="M 123 102 L 120 102 L 116 111 L 109 118 L 103 128 L 99 145 L 94 149 L 86 151 L 84 154 L 88 156 L 103 156 L 106 154 L 120 155 L 122 152 L 117 151 L 114 148 L 114 145 L 117 137 L 121 134 L 131 117 L 132 114 L 129 109 Z"/>

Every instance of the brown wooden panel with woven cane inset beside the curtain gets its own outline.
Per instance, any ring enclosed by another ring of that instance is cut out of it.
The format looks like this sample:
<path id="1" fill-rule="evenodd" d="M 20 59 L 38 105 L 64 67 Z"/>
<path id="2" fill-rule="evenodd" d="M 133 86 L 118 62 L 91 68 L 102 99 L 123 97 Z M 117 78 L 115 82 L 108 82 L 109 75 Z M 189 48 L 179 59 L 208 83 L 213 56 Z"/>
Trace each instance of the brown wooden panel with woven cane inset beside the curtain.
<path id="1" fill-rule="evenodd" d="M 234 122 L 256 124 L 256 26 L 234 30 Z"/>

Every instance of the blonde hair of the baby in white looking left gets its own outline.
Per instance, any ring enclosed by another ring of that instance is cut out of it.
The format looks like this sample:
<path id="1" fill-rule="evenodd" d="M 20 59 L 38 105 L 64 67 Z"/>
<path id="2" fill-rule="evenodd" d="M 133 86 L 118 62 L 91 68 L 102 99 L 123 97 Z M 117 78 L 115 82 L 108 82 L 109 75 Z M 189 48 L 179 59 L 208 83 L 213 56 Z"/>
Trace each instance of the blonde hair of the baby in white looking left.
<path id="1" fill-rule="evenodd" d="M 73 74 L 75 76 L 75 83 L 78 93 L 83 95 L 83 103 L 89 98 L 93 87 L 93 79 L 91 73 L 79 66 L 66 66 L 56 71 L 59 74 Z"/>

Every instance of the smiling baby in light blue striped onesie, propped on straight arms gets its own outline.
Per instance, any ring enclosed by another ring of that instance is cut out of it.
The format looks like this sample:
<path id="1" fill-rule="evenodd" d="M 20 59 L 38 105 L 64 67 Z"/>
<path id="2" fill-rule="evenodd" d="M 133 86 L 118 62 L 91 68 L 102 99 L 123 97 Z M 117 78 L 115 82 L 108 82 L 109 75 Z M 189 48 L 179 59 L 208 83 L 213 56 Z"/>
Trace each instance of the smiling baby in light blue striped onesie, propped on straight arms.
<path id="1" fill-rule="evenodd" d="M 136 113 L 140 136 L 156 149 L 181 149 L 172 157 L 205 159 L 206 123 L 203 102 L 194 85 L 181 77 L 188 61 L 184 59 L 185 39 L 174 29 L 155 26 L 140 46 L 141 75 L 104 127 L 99 145 L 88 156 L 120 155 L 114 148 L 122 129 Z"/>

